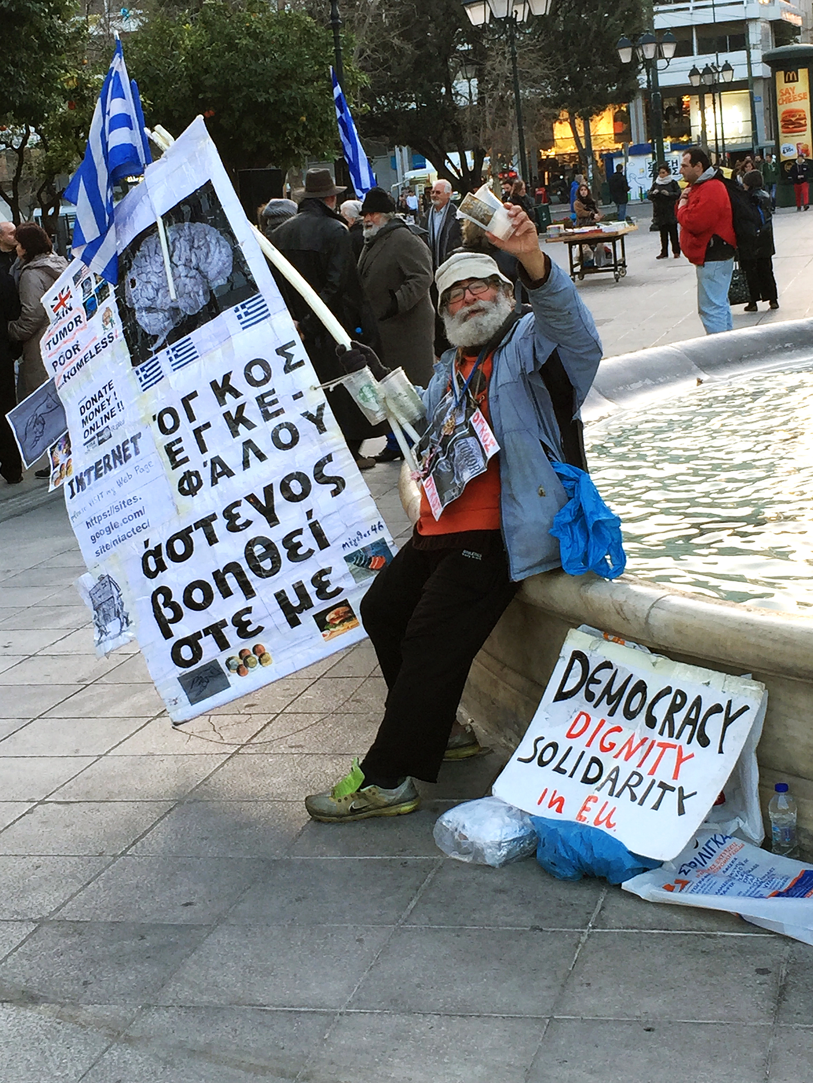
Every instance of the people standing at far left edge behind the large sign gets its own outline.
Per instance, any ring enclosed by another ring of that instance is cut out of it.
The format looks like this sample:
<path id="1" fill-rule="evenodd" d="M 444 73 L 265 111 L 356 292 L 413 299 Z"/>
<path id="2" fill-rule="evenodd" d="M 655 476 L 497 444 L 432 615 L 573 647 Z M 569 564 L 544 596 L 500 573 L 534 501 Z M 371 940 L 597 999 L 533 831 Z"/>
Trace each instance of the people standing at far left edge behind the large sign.
<path id="1" fill-rule="evenodd" d="M 48 379 L 39 348 L 48 326 L 42 295 L 66 266 L 42 226 L 0 222 L 0 477 L 9 485 L 23 481 L 23 460 L 5 415 Z"/>

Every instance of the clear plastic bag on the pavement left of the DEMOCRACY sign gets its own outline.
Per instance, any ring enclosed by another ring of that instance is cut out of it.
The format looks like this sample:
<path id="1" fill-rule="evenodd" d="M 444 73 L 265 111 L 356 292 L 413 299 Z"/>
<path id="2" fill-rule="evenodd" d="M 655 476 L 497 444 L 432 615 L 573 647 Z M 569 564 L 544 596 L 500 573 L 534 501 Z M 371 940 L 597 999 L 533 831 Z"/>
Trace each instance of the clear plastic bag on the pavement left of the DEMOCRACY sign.
<path id="1" fill-rule="evenodd" d="M 450 858 L 500 869 L 537 849 L 531 818 L 499 797 L 464 801 L 436 822 L 435 841 Z"/>

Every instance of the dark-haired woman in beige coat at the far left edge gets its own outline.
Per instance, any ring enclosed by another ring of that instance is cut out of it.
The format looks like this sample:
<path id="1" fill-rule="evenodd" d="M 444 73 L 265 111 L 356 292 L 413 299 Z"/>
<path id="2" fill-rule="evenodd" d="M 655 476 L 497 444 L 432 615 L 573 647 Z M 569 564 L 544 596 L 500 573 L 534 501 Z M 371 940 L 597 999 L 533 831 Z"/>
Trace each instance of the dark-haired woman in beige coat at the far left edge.
<path id="1" fill-rule="evenodd" d="M 23 222 L 16 229 L 17 257 L 21 271 L 20 318 L 9 324 L 9 338 L 23 343 L 23 357 L 17 370 L 17 402 L 22 403 L 48 379 L 39 341 L 48 327 L 48 314 L 42 308 L 47 292 L 67 266 L 62 256 L 56 256 L 51 238 L 35 222 Z"/>

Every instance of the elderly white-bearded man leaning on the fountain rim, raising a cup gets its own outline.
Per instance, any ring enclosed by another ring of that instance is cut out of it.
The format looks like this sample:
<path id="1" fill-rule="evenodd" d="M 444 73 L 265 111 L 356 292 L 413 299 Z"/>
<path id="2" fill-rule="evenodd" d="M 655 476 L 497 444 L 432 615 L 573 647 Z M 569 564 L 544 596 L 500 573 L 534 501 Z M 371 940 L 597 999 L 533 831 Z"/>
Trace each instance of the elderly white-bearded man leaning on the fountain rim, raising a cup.
<path id="1" fill-rule="evenodd" d="M 306 798 L 314 820 L 412 812 L 421 801 L 415 779 L 435 782 L 444 757 L 478 751 L 473 734 L 453 732 L 472 662 L 522 579 L 559 565 L 549 531 L 567 498 L 551 462 L 585 467 L 578 415 L 602 345 L 569 277 L 540 251 L 528 216 L 507 211 L 511 236 L 488 236 L 519 261 L 531 311 L 515 312 L 512 285 L 487 255 L 457 252 L 438 268 L 453 349 L 424 392 L 430 421 L 422 441 L 438 446 L 462 408 L 469 416 L 477 408 L 499 451 L 439 518 L 424 493 L 413 536 L 361 603 L 387 683 L 384 719 L 362 762 L 333 790 Z M 356 343 L 343 362 L 386 373 Z"/>

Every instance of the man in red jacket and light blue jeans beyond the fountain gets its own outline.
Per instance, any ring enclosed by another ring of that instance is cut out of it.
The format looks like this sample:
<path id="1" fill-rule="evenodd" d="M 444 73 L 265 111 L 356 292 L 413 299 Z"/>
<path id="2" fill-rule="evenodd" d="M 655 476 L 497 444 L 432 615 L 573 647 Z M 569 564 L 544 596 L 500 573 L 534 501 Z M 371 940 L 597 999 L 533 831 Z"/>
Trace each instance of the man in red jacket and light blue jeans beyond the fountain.
<path id="1" fill-rule="evenodd" d="M 707 335 L 732 329 L 728 287 L 734 272 L 731 200 L 702 151 L 686 151 L 681 173 L 686 187 L 678 204 L 681 250 L 697 271 L 697 311 Z"/>

